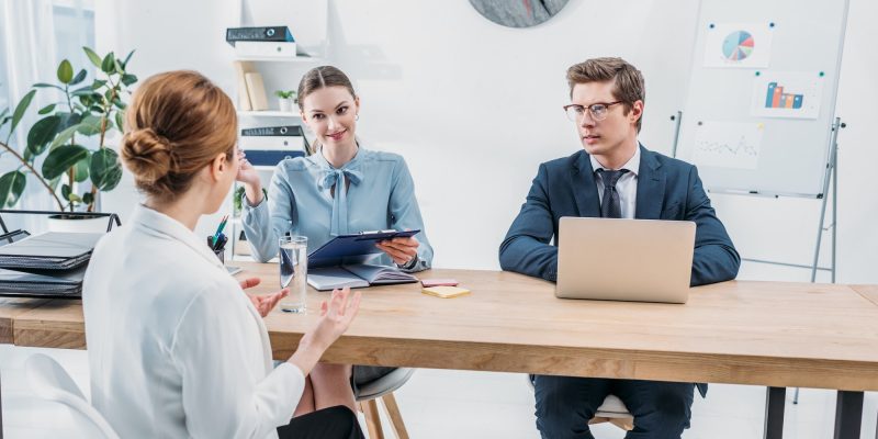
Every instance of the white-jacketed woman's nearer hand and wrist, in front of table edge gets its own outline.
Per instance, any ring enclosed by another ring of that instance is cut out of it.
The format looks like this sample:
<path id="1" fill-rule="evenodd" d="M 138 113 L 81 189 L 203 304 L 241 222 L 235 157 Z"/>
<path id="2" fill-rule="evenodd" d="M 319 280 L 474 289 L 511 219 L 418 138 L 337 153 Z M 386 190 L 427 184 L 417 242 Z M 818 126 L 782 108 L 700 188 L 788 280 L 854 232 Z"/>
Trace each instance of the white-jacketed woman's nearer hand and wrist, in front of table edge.
<path id="1" fill-rule="evenodd" d="M 349 288 L 333 290 L 329 303 L 320 304 L 320 319 L 312 330 L 299 341 L 299 349 L 288 360 L 297 367 L 303 375 L 311 373 L 326 349 L 341 336 L 357 312 L 360 309 L 360 292 L 352 293 Z"/>

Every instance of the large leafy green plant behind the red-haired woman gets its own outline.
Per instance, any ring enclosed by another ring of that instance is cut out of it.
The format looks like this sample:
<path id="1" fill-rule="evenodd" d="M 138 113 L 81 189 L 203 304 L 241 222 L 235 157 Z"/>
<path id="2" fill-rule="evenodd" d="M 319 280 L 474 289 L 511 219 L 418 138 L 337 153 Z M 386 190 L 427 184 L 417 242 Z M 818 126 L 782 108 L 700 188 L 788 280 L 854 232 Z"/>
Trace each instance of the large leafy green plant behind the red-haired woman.
<path id="1" fill-rule="evenodd" d="M 121 132 L 126 106 L 123 97 L 131 94 L 128 87 L 137 81 L 126 70 L 134 52 L 122 60 L 112 52 L 101 57 L 88 47 L 82 49 L 101 78 L 82 85 L 87 71 L 74 75 L 72 65 L 65 59 L 56 71 L 57 83 L 35 83 L 12 113 L 9 109 L 0 112 L 0 128 L 10 124 L 0 150 L 18 161 L 15 169 L 0 176 L 0 207 L 15 205 L 29 179 L 46 189 L 60 212 L 94 212 L 98 193 L 119 184 L 122 166 L 106 139 Z M 9 146 L 12 135 L 37 91 L 47 89 L 57 90 L 61 99 L 38 111 L 43 117 L 31 126 L 19 154 Z M 105 225 L 105 218 L 98 219 Z"/>

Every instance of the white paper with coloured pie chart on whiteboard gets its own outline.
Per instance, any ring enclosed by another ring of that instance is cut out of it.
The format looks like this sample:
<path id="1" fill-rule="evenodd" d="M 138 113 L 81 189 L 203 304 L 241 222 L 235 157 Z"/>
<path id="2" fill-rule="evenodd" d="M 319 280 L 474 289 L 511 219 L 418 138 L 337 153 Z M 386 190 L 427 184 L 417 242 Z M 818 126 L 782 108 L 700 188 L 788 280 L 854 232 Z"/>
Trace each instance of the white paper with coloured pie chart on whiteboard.
<path id="1" fill-rule="evenodd" d="M 705 67 L 766 68 L 773 33 L 770 23 L 709 23 Z"/>

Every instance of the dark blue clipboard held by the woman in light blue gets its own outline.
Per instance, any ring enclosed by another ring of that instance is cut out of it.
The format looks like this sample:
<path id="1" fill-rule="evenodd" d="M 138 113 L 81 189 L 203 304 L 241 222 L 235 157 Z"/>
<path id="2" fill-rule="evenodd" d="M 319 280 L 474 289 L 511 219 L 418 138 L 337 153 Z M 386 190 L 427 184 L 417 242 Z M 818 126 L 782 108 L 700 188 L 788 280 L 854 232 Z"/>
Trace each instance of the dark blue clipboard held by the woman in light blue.
<path id="1" fill-rule="evenodd" d="M 375 243 L 392 238 L 407 238 L 420 233 L 417 230 L 379 230 L 339 235 L 308 255 L 308 268 L 338 267 L 342 264 L 365 263 L 382 254 Z"/>

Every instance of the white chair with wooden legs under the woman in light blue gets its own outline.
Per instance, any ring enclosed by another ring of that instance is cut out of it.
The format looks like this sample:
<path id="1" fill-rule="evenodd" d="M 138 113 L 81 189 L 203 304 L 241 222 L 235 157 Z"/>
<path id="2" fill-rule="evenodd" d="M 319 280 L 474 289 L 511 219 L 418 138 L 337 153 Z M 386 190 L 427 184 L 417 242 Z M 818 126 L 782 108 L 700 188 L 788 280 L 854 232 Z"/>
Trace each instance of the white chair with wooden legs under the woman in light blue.
<path id="1" fill-rule="evenodd" d="M 376 399 L 381 399 L 391 427 L 396 434 L 397 439 L 408 439 L 408 432 L 403 424 L 403 416 L 399 414 L 399 406 L 393 392 L 402 387 L 412 374 L 414 369 L 398 368 L 393 372 L 359 387 L 357 402 L 365 416 L 365 427 L 369 430 L 369 439 L 384 439 L 384 430 L 381 428 L 381 416 L 378 413 Z"/>

